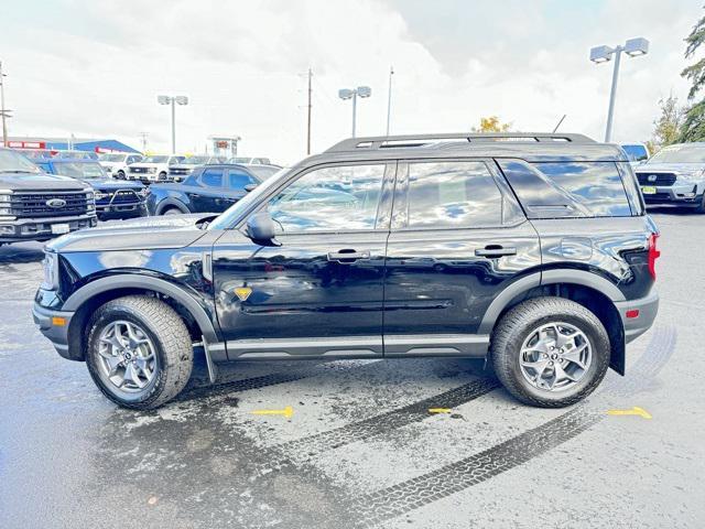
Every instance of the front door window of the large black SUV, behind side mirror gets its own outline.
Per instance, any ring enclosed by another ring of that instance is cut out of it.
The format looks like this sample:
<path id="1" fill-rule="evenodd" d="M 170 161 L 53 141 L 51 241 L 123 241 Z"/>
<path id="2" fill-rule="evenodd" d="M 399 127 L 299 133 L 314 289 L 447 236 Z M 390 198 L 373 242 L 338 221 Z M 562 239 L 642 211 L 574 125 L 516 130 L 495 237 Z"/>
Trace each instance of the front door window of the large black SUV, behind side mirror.
<path id="1" fill-rule="evenodd" d="M 269 202 L 284 233 L 373 229 L 384 165 L 325 168 L 306 173 Z"/>

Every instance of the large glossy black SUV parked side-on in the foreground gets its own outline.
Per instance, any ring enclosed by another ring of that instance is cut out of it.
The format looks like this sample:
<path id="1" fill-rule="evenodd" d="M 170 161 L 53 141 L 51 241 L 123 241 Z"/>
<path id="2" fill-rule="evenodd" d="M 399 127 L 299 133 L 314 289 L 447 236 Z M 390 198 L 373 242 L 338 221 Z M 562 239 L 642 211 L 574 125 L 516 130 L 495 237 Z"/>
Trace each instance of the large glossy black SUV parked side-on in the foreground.
<path id="1" fill-rule="evenodd" d="M 139 226 L 134 223 L 134 226 Z M 654 321 L 658 230 L 619 147 L 578 134 L 345 140 L 224 214 L 46 248 L 34 319 L 115 402 L 218 363 L 488 358 L 519 400 L 584 398 Z"/>

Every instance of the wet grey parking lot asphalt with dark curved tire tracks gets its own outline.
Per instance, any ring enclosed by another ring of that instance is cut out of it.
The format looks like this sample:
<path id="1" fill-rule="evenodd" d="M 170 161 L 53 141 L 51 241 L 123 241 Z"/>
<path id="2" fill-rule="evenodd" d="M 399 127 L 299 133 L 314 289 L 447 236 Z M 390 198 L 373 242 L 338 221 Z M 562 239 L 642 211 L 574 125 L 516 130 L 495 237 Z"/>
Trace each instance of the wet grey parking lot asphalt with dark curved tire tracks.
<path id="1" fill-rule="evenodd" d="M 0 528 L 705 527 L 705 216 L 653 217 L 657 325 L 561 410 L 441 358 L 237 364 L 215 387 L 198 363 L 176 402 L 122 410 L 32 323 L 41 245 L 2 247 Z"/>

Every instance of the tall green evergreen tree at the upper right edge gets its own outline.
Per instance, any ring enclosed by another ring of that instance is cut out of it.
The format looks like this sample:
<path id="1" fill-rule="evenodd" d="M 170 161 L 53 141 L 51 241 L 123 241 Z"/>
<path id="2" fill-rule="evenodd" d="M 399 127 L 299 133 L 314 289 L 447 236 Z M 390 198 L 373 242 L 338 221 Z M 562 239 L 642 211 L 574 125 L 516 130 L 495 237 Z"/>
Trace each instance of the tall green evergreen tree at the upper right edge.
<path id="1" fill-rule="evenodd" d="M 691 33 L 685 37 L 685 58 L 692 58 L 701 45 L 705 44 L 705 17 L 701 18 L 693 26 Z M 681 72 L 681 76 L 692 83 L 687 94 L 688 101 L 692 101 L 701 88 L 705 86 L 705 57 L 686 67 Z M 694 102 L 685 111 L 679 138 L 679 141 L 702 140 L 705 140 L 705 98 Z"/>

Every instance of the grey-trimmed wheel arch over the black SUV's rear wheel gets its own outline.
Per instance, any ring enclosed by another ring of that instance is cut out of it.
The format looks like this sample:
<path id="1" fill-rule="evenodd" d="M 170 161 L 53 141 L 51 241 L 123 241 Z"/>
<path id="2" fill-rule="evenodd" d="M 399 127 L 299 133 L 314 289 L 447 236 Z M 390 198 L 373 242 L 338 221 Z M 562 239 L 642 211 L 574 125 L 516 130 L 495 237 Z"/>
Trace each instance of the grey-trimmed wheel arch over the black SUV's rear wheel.
<path id="1" fill-rule="evenodd" d="M 625 374 L 625 328 L 615 306 L 615 302 L 625 301 L 625 295 L 607 279 L 583 270 L 544 270 L 514 281 L 490 303 L 478 334 L 491 335 L 495 325 L 511 307 L 544 295 L 575 301 L 593 312 L 609 336 L 609 367 L 620 375 Z"/>

